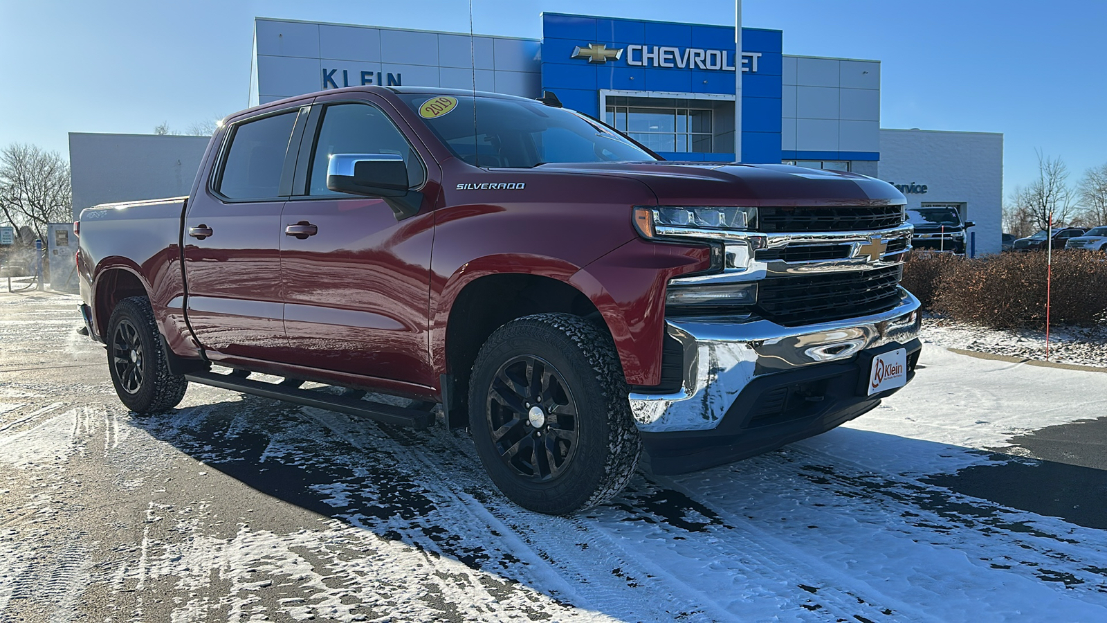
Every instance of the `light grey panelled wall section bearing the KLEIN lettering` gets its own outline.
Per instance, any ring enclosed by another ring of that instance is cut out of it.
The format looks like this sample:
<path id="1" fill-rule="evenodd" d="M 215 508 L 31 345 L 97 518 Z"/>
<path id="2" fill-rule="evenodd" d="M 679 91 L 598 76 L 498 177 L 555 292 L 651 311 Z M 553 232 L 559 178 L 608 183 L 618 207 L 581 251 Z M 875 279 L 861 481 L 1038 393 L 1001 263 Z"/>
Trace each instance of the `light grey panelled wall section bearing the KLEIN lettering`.
<path id="1" fill-rule="evenodd" d="M 257 18 L 255 48 L 255 104 L 331 86 L 324 70 L 338 70 L 338 86 L 361 85 L 370 72 L 385 84 L 399 74 L 404 86 L 473 89 L 475 80 L 478 91 L 527 98 L 541 89 L 536 39 L 475 37 L 470 50 L 468 34 Z"/>

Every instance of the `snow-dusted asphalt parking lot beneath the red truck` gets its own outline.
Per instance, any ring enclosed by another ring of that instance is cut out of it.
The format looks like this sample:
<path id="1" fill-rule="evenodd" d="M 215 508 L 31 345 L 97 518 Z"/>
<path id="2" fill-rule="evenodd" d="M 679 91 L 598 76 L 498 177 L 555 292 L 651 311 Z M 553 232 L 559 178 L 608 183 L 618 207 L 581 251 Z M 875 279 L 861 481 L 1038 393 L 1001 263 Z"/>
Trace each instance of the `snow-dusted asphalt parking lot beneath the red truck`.
<path id="1" fill-rule="evenodd" d="M 929 346 L 847 427 L 551 518 L 464 432 L 131 415 L 75 305 L 0 295 L 0 621 L 1107 620 L 1107 374 Z"/>

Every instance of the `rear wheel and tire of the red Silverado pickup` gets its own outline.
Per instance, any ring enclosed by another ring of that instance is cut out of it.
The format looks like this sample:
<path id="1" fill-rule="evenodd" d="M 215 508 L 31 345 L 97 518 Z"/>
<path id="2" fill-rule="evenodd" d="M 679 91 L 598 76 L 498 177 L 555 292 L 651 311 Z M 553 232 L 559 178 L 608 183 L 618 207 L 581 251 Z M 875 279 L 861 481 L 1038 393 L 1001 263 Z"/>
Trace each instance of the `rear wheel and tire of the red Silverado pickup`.
<path id="1" fill-rule="evenodd" d="M 128 409 L 152 415 L 180 404 L 188 381 L 169 372 L 149 299 L 132 296 L 121 300 L 112 312 L 105 339 L 112 385 Z"/>

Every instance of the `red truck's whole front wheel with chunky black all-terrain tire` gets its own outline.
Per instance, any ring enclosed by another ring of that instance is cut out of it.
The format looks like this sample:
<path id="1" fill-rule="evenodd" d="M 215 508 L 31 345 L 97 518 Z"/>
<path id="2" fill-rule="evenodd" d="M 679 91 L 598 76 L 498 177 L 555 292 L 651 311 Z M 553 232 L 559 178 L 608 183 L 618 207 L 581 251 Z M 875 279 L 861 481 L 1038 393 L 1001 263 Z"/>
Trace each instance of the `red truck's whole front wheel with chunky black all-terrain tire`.
<path id="1" fill-rule="evenodd" d="M 513 320 L 480 348 L 469 378 L 477 453 L 496 487 L 517 504 L 568 514 L 610 500 L 633 476 L 642 441 L 606 330 L 569 314 Z M 535 413 L 536 407 L 545 412 Z"/>

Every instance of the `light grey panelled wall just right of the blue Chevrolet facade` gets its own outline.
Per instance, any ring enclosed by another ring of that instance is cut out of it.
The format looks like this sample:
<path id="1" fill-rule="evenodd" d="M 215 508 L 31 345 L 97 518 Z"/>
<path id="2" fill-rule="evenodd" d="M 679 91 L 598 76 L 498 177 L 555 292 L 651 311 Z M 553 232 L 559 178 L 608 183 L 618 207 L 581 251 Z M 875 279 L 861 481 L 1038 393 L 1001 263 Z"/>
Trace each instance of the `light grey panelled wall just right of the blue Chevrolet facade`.
<path id="1" fill-rule="evenodd" d="M 880 61 L 785 54 L 783 73 L 780 149 L 880 151 Z"/>

